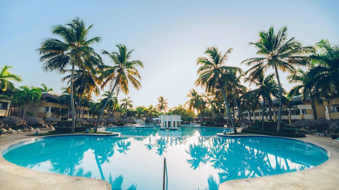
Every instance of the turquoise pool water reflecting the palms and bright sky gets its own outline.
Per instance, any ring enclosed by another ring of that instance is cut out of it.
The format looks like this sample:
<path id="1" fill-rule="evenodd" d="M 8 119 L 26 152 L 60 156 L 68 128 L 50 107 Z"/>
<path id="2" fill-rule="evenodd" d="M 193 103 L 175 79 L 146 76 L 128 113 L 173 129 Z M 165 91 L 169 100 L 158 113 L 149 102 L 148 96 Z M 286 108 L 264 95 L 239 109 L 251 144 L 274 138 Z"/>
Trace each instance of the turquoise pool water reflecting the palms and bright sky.
<path id="1" fill-rule="evenodd" d="M 314 167 L 328 159 L 319 147 L 283 138 L 217 138 L 223 129 L 115 128 L 121 137 L 45 137 L 3 151 L 14 164 L 38 171 L 106 180 L 112 189 L 217 190 L 227 180 Z M 136 136 L 137 135 L 137 136 Z"/>

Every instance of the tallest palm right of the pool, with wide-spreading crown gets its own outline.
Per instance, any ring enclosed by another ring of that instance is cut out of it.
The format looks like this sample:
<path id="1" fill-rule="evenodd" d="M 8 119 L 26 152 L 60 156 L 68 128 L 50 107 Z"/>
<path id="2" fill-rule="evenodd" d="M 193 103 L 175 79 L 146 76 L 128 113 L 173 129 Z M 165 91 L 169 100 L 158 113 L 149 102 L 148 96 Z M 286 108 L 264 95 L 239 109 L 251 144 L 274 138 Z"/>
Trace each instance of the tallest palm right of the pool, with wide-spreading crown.
<path id="1" fill-rule="evenodd" d="M 271 27 L 268 31 L 259 32 L 259 40 L 250 45 L 255 45 L 257 54 L 262 57 L 249 58 L 241 63 L 252 66 L 248 71 L 274 68 L 279 86 L 279 112 L 277 132 L 280 130 L 281 110 L 282 110 L 282 87 L 280 83 L 278 69 L 282 72 L 295 72 L 296 67 L 305 66 L 308 63 L 307 54 L 314 53 L 312 46 L 302 46 L 295 38 L 287 39 L 287 27 L 282 27 L 278 32 L 274 32 Z"/>

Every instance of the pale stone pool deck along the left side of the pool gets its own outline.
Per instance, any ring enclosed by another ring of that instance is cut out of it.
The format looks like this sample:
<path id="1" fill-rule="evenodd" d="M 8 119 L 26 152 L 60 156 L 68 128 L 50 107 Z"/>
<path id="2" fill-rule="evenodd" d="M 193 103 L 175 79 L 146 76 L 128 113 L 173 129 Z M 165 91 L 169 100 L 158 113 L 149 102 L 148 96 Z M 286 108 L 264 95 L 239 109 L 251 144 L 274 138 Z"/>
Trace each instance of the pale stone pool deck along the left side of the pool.
<path id="1" fill-rule="evenodd" d="M 35 138 L 27 136 L 34 133 L 2 134 L 0 150 L 12 143 Z M 39 133 L 48 132 L 41 130 Z M 1 190 L 111 190 L 111 184 L 103 180 L 40 172 L 12 164 L 2 156 L 0 156 L 0 176 Z"/>

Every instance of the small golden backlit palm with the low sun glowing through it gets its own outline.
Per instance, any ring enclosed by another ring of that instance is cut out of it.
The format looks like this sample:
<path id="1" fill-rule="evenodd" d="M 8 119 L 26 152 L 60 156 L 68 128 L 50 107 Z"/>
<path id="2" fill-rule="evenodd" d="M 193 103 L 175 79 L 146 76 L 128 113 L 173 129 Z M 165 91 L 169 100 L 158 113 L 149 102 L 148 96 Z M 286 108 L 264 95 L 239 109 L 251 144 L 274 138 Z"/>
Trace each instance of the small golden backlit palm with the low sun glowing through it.
<path id="1" fill-rule="evenodd" d="M 185 104 L 187 104 L 187 109 L 197 110 L 198 115 L 200 117 L 200 124 L 203 124 L 203 118 L 202 117 L 202 110 L 206 107 L 205 100 L 203 99 L 204 95 L 199 94 L 196 90 L 191 89 L 190 92 L 187 94 L 187 97 L 190 98 Z"/>

